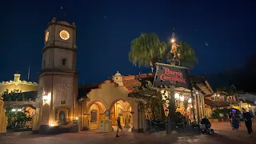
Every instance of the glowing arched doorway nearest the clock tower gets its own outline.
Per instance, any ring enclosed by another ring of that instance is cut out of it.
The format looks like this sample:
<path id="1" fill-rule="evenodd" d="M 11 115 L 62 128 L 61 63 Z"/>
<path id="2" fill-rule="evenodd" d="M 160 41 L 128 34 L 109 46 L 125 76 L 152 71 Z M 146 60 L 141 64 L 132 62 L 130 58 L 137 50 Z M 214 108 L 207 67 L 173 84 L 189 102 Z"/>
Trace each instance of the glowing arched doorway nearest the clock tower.
<path id="1" fill-rule="evenodd" d="M 89 126 L 90 130 L 98 129 L 99 122 L 106 119 L 105 116 L 106 106 L 102 102 L 94 102 L 90 105 L 89 109 Z"/>

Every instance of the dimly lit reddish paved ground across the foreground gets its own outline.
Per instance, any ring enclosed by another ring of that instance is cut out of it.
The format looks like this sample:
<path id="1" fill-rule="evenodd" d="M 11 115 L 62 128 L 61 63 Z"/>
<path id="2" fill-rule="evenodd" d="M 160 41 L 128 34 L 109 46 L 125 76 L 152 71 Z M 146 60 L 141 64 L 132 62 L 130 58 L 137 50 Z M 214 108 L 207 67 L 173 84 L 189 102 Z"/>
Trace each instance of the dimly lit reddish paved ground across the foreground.
<path id="1" fill-rule="evenodd" d="M 197 136 L 182 136 L 172 134 L 158 138 L 152 134 L 136 134 L 121 132 L 119 138 L 115 138 L 115 133 L 98 133 L 97 131 L 86 131 L 79 134 L 58 134 L 52 136 L 42 136 L 37 134 L 20 136 L 2 136 L 0 144 L 96 144 L 96 143 L 197 143 L 197 144 L 224 144 L 230 143 L 255 143 L 256 134 L 247 134 L 246 126 L 242 123 L 242 128 L 238 131 L 231 130 L 229 122 L 213 122 L 212 126 L 217 134 L 200 134 Z M 254 121 L 256 130 L 256 121 Z"/>

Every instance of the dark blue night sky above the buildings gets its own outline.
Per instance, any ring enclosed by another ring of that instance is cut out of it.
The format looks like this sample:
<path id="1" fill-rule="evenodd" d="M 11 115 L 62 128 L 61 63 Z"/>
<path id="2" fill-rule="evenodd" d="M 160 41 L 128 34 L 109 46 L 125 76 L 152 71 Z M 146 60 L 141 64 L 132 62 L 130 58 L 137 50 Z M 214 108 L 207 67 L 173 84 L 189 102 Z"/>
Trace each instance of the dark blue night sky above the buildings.
<path id="1" fill-rule="evenodd" d="M 71 2 L 71 3 L 70 3 Z M 179 40 L 198 55 L 193 74 L 213 74 L 245 65 L 256 53 L 256 2 L 204 1 L 86 1 L 39 0 L 1 3 L 0 81 L 22 74 L 38 82 L 47 23 L 57 20 L 77 26 L 79 83 L 102 82 L 122 75 L 150 72 L 128 60 L 130 42 L 142 32 L 166 41 L 175 27 Z"/>

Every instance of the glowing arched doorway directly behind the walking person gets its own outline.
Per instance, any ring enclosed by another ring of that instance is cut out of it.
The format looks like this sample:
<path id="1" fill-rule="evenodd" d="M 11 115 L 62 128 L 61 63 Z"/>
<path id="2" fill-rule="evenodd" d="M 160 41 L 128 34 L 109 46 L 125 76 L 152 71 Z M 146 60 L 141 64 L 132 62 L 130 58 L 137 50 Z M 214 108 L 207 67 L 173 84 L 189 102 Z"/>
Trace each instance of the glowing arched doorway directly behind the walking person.
<path id="1" fill-rule="evenodd" d="M 117 118 L 120 117 L 121 125 L 125 129 L 130 130 L 133 126 L 133 116 L 130 113 L 132 110 L 129 102 L 124 100 L 118 100 L 112 103 L 110 106 L 110 118 L 112 120 L 112 126 L 114 130 L 117 129 Z"/>

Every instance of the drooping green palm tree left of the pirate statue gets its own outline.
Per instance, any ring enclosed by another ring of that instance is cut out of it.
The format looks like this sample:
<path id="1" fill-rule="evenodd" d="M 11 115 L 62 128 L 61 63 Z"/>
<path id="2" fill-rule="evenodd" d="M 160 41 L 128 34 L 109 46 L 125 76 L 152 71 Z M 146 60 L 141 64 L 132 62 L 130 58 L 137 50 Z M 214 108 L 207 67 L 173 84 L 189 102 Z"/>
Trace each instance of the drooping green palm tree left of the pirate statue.
<path id="1" fill-rule="evenodd" d="M 154 72 L 154 62 L 159 62 L 166 51 L 166 43 L 161 42 L 157 34 L 142 33 L 131 42 L 128 54 L 134 66 L 150 66 Z"/>

